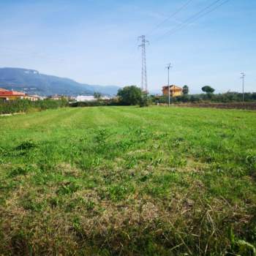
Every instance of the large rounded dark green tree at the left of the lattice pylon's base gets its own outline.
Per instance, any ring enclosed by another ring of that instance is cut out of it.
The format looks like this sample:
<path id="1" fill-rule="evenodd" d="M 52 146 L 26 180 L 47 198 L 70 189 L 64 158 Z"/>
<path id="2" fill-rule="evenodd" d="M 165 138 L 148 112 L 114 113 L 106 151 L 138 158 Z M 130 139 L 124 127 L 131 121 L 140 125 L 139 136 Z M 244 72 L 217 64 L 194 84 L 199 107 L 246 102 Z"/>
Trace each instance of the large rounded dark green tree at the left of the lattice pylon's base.
<path id="1" fill-rule="evenodd" d="M 125 86 L 118 90 L 117 96 L 123 105 L 138 105 L 142 100 L 142 94 L 137 86 Z"/>

